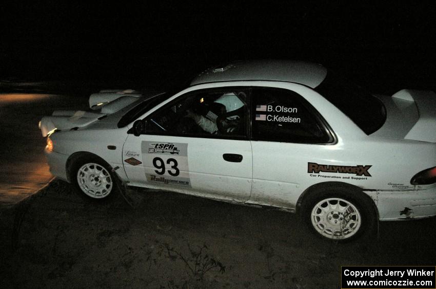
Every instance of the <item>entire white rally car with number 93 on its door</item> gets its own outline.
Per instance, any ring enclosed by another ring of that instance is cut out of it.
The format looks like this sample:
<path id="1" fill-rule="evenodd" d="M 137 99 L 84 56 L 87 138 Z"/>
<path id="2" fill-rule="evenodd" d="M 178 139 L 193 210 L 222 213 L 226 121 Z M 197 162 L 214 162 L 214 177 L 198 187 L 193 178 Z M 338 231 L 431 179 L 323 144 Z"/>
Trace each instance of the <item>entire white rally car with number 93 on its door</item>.
<path id="1" fill-rule="evenodd" d="M 319 64 L 259 60 L 208 69 L 176 93 L 111 93 L 61 128 L 41 123 L 50 171 L 89 197 L 118 178 L 300 212 L 339 240 L 436 214 L 433 92 L 373 96 Z"/>

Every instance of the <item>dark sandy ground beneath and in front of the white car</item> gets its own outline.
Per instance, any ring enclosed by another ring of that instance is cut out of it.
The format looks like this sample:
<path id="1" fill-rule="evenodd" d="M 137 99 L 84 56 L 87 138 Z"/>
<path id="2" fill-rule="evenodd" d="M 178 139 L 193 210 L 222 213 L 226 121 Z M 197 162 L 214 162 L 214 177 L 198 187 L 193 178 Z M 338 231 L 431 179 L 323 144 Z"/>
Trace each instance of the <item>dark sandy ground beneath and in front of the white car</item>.
<path id="1" fill-rule="evenodd" d="M 436 260 L 435 218 L 338 244 L 286 212 L 149 190 L 129 191 L 132 208 L 121 194 L 92 202 L 58 180 L 36 192 L 51 179 L 37 121 L 77 101 L 16 101 L 0 104 L 0 288 L 339 288 L 341 265 Z"/>

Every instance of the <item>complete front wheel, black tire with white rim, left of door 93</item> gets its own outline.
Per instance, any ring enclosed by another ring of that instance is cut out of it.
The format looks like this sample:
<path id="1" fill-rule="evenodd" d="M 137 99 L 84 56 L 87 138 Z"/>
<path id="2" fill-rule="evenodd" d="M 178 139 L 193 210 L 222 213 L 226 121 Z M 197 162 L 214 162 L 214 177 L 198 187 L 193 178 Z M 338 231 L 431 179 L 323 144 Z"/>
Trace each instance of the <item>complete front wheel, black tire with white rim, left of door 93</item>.
<path id="1" fill-rule="evenodd" d="M 70 180 L 77 192 L 90 199 L 108 199 L 117 190 L 117 179 L 112 168 L 90 153 L 74 161 Z"/>

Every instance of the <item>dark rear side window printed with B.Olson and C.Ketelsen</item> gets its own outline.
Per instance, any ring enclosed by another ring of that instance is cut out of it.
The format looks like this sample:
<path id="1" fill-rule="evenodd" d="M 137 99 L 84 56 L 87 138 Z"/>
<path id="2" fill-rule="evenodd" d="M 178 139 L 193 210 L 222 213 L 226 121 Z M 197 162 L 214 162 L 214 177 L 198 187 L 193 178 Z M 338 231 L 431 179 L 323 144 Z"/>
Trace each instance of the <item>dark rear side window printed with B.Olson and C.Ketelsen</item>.
<path id="1" fill-rule="evenodd" d="M 281 88 L 253 88 L 252 100 L 254 140 L 333 142 L 325 121 L 299 94 Z"/>

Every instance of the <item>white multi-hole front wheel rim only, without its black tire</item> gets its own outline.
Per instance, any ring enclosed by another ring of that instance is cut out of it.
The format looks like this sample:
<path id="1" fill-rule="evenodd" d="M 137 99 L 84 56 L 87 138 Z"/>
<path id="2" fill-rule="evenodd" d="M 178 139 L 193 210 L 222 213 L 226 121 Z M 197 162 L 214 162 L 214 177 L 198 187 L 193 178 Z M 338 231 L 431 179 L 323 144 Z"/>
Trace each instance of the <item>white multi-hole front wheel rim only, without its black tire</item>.
<path id="1" fill-rule="evenodd" d="M 104 198 L 113 187 L 112 177 L 102 165 L 86 163 L 77 170 L 77 184 L 92 198 Z"/>

